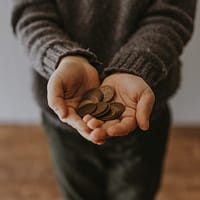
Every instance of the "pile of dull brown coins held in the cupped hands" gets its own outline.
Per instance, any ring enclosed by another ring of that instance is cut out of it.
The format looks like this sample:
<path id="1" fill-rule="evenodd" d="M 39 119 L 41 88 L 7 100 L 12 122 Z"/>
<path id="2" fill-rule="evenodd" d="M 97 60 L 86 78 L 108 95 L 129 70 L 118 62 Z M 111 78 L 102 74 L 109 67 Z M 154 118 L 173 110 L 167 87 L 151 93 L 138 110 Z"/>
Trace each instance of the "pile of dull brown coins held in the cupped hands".
<path id="1" fill-rule="evenodd" d="M 110 86 L 102 86 L 87 91 L 77 109 L 84 117 L 87 114 L 102 121 L 118 119 L 125 110 L 122 103 L 114 102 L 115 91 Z"/>

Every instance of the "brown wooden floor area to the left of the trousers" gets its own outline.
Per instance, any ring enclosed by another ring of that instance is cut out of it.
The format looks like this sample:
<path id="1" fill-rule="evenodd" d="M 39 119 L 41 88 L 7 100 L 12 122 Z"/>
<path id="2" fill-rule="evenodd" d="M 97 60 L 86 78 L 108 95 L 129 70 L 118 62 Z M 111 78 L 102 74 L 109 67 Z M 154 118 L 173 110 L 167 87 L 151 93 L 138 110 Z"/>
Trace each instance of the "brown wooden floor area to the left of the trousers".
<path id="1" fill-rule="evenodd" d="M 0 199 L 62 199 L 41 127 L 0 127 Z"/>

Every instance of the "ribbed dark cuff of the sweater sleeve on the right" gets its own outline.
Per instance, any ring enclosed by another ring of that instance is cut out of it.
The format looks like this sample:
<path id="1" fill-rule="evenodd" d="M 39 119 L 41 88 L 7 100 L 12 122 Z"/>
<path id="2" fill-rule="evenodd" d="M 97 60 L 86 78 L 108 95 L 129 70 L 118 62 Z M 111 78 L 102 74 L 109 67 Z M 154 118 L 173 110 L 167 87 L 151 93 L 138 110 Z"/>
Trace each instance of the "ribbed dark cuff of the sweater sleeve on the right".
<path id="1" fill-rule="evenodd" d="M 104 69 L 104 76 L 117 72 L 140 76 L 151 88 L 167 77 L 167 68 L 158 56 L 152 52 L 134 51 L 118 53 L 110 65 Z"/>

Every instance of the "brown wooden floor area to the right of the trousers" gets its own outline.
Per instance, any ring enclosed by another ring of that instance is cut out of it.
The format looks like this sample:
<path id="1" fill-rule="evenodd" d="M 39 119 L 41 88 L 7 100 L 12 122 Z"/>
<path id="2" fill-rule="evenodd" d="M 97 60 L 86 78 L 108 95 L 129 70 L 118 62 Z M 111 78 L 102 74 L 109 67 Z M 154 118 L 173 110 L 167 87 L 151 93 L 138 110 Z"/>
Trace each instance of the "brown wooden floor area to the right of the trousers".
<path id="1" fill-rule="evenodd" d="M 173 128 L 157 200 L 200 199 L 200 127 Z"/>

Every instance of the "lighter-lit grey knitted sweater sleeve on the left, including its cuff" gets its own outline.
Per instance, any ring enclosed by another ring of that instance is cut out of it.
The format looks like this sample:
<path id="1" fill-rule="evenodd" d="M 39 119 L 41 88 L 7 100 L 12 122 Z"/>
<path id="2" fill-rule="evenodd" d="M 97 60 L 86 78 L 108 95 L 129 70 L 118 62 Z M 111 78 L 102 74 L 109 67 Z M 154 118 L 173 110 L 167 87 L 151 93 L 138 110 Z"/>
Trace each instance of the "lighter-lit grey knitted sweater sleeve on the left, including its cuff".
<path id="1" fill-rule="evenodd" d="M 96 55 L 71 41 L 62 30 L 54 1 L 14 0 L 11 23 L 35 70 L 44 78 L 48 79 L 67 55 L 83 56 L 99 71 Z"/>

